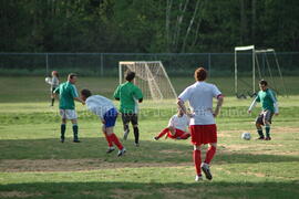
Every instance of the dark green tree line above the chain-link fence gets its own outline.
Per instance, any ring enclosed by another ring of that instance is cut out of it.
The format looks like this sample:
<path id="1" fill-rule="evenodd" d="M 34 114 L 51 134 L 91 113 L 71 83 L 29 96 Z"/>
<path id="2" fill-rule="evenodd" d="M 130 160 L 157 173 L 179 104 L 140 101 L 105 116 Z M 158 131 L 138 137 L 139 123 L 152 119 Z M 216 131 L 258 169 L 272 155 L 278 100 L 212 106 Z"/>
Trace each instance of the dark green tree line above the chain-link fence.
<path id="1" fill-rule="evenodd" d="M 298 0 L 0 0 L 0 51 L 299 51 L 298 10 Z"/>

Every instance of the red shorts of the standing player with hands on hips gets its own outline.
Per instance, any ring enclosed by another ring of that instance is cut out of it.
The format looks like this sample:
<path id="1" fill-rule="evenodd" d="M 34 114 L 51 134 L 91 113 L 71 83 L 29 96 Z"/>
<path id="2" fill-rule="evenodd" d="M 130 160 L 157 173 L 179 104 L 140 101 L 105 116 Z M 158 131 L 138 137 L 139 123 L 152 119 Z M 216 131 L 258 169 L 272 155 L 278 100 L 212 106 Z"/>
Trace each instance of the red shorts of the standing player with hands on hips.
<path id="1" fill-rule="evenodd" d="M 212 125 L 190 125 L 192 144 L 202 145 L 217 143 L 217 126 Z"/>

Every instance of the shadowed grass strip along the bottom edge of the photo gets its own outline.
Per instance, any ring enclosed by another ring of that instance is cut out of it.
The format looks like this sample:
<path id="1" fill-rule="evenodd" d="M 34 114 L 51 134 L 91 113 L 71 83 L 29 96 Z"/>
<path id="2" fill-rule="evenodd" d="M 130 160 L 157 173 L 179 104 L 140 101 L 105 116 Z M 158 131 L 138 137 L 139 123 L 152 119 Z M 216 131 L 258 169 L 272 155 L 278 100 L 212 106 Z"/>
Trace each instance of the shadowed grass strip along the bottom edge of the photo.
<path id="1" fill-rule="evenodd" d="M 291 182 L 33 182 L 0 187 L 1 198 L 297 198 Z"/>

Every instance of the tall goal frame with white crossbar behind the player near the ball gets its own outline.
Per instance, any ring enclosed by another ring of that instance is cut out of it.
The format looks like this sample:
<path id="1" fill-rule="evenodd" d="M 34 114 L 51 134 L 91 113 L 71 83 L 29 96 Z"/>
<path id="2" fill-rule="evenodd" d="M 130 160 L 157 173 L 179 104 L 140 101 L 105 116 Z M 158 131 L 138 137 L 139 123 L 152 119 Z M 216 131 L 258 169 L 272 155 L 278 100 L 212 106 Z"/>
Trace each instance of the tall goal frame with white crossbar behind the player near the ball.
<path id="1" fill-rule="evenodd" d="M 238 98 L 255 96 L 258 81 L 266 80 L 280 95 L 287 95 L 277 54 L 274 49 L 256 50 L 255 45 L 235 48 L 235 93 Z"/>

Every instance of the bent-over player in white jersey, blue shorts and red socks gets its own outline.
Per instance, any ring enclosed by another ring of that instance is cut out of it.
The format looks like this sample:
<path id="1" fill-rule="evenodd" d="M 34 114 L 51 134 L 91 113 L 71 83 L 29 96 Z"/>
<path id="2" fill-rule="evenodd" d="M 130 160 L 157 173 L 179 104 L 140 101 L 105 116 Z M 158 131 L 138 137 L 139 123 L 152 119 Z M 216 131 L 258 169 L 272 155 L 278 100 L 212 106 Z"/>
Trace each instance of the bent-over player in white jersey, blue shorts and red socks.
<path id="1" fill-rule="evenodd" d="M 109 144 L 106 153 L 110 154 L 115 149 L 113 147 L 114 143 L 118 148 L 117 156 L 122 156 L 126 150 L 113 133 L 113 127 L 115 126 L 117 117 L 117 111 L 113 103 L 104 96 L 92 95 L 89 90 L 81 91 L 81 98 L 85 102 L 87 109 L 97 115 L 103 123 L 102 130 Z"/>

